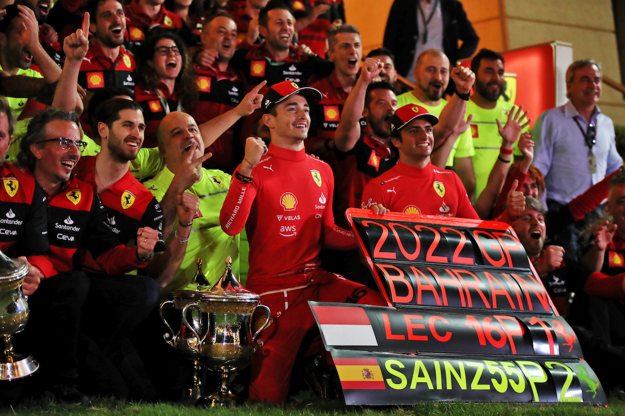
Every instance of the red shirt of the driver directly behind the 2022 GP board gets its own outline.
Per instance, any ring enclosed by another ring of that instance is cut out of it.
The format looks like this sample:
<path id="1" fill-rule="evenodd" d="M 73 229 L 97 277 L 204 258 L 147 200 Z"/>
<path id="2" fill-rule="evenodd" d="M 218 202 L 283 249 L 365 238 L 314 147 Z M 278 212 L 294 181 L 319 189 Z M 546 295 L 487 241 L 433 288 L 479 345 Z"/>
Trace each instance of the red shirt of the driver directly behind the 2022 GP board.
<path id="1" fill-rule="evenodd" d="M 375 204 L 407 214 L 479 219 L 456 172 L 398 162 L 372 179 L 362 194 L 362 208 Z"/>

